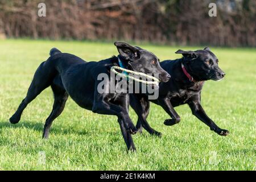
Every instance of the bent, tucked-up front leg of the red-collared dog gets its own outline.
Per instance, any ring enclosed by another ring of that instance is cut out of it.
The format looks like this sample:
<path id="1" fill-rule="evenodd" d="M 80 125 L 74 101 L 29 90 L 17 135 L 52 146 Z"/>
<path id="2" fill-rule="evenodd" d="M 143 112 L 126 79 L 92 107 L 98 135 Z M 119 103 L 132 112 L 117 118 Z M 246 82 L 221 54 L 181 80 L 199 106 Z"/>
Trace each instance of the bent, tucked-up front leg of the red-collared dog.
<path id="1" fill-rule="evenodd" d="M 180 122 L 180 116 L 176 113 L 174 110 L 174 107 L 172 107 L 171 101 L 168 98 L 159 98 L 159 105 L 163 107 L 163 109 L 170 115 L 171 119 L 166 119 L 164 121 L 164 125 L 172 126 L 176 123 Z"/>

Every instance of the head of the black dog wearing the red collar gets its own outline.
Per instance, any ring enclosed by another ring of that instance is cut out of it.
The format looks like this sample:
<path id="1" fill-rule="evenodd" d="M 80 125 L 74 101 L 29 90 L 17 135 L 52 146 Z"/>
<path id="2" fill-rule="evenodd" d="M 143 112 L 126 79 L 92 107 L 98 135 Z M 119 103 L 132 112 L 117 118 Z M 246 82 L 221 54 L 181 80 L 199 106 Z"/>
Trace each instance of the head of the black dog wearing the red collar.
<path id="1" fill-rule="evenodd" d="M 218 59 L 208 47 L 197 51 L 178 50 L 183 55 L 183 64 L 195 80 L 222 80 L 225 73 L 218 67 Z"/>

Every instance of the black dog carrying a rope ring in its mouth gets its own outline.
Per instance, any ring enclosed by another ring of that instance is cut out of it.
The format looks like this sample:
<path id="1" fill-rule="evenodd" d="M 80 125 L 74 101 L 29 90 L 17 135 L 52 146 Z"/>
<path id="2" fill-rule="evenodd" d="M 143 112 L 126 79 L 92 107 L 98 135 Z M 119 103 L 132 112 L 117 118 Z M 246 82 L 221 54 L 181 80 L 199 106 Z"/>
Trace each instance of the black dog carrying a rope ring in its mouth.
<path id="1" fill-rule="evenodd" d="M 170 75 L 160 67 L 159 59 L 151 52 L 124 42 L 115 42 L 114 44 L 119 52 L 119 60 L 127 69 L 143 73 L 159 73 L 159 78 L 162 81 L 169 80 Z M 48 138 L 53 120 L 61 114 L 68 96 L 71 96 L 84 109 L 98 114 L 116 115 L 127 148 L 135 150 L 131 134 L 135 134 L 137 129 L 128 114 L 129 94 L 100 94 L 97 90 L 97 86 L 101 82 L 97 76 L 100 73 L 110 75 L 110 67 L 119 65 L 118 57 L 86 63 L 79 57 L 61 53 L 56 48 L 51 49 L 50 55 L 48 60 L 40 64 L 36 70 L 27 96 L 10 118 L 10 122 L 18 123 L 27 104 L 44 89 L 51 86 L 55 101 L 52 112 L 44 125 L 43 138 Z M 106 86 L 110 87 L 110 77 Z"/>

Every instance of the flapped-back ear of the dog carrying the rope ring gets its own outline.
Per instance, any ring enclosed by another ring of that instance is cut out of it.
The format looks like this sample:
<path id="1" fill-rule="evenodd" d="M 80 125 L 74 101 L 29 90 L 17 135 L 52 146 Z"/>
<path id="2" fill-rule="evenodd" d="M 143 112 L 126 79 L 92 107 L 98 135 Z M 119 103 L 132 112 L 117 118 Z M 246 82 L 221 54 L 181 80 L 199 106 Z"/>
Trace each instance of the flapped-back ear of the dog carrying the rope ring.
<path id="1" fill-rule="evenodd" d="M 125 60 L 134 61 L 139 58 L 139 48 L 131 46 L 126 42 L 119 42 L 119 41 L 116 41 L 114 45 L 117 47 L 119 54 Z"/>

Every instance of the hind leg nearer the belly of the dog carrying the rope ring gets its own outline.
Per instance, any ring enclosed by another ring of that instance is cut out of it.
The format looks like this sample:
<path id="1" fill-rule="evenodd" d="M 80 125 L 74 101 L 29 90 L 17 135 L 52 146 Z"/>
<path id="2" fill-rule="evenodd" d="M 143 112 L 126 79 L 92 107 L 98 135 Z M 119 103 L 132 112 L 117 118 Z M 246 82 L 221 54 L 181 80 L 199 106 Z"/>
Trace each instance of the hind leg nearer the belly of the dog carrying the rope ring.
<path id="1" fill-rule="evenodd" d="M 43 138 L 45 139 L 49 137 L 49 129 L 51 128 L 53 120 L 56 119 L 62 113 L 66 101 L 68 100 L 68 93 L 62 86 L 52 84 L 51 88 L 53 91 L 54 103 L 51 114 L 46 119 L 46 124 L 44 125 Z"/>

